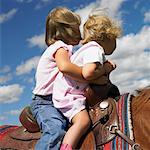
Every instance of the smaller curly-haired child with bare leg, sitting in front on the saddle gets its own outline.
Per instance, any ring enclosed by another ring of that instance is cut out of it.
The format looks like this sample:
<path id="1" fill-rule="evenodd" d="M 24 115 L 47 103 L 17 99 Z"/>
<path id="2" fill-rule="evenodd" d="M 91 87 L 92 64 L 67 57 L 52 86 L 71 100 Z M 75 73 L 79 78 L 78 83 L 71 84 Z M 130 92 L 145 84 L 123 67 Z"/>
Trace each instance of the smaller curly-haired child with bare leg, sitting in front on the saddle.
<path id="1" fill-rule="evenodd" d="M 84 44 L 71 56 L 71 62 L 82 67 L 82 75 L 86 80 L 99 80 L 99 77 L 109 75 L 115 69 L 115 64 L 106 61 L 116 48 L 116 38 L 120 35 L 119 26 L 106 16 L 93 15 L 84 24 Z M 70 80 L 61 72 L 57 75 L 53 87 L 53 103 L 72 126 L 68 129 L 61 150 L 71 150 L 77 147 L 80 138 L 90 126 L 88 112 L 85 109 L 84 91 L 87 83 Z"/>

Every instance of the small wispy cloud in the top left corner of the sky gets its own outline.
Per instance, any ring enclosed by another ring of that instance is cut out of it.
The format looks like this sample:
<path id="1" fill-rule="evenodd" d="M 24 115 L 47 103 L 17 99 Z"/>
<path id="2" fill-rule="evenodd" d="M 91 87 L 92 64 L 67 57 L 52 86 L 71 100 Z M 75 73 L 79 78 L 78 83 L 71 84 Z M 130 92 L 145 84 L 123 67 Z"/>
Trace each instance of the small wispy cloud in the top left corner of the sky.
<path id="1" fill-rule="evenodd" d="M 16 14 L 16 12 L 17 12 L 17 9 L 13 8 L 7 13 L 0 14 L 0 24 L 11 19 Z"/>

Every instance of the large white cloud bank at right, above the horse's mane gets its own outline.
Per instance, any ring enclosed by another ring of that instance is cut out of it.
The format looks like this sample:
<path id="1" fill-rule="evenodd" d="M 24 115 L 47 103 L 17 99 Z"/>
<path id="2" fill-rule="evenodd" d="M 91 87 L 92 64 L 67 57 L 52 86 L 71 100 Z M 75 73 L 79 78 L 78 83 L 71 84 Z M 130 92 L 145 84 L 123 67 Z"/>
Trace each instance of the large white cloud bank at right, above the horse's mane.
<path id="1" fill-rule="evenodd" d="M 121 93 L 150 85 L 149 37 L 150 27 L 144 26 L 139 33 L 120 38 L 116 51 L 110 56 L 117 64 L 111 79 L 119 86 Z"/>

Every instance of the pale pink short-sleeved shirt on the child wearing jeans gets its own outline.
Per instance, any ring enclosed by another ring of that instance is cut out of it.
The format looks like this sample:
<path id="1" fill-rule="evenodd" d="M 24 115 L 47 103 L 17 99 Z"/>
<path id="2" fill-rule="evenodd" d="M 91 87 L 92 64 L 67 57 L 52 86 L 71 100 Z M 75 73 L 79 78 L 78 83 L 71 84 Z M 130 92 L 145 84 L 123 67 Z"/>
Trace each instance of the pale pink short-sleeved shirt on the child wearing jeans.
<path id="1" fill-rule="evenodd" d="M 36 70 L 36 86 L 34 94 L 49 95 L 53 92 L 53 82 L 58 74 L 58 68 L 54 59 L 54 54 L 59 48 L 64 48 L 72 54 L 72 45 L 67 45 L 62 41 L 57 41 L 50 45 L 41 56 Z"/>

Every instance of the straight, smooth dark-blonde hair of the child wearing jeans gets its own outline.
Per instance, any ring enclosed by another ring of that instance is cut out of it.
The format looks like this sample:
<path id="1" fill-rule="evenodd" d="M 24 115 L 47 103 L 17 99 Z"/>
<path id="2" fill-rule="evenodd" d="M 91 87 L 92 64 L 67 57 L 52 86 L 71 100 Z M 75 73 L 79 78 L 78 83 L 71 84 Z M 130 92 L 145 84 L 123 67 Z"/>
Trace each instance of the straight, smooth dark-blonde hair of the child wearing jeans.
<path id="1" fill-rule="evenodd" d="M 79 27 L 80 17 L 67 8 L 59 7 L 52 10 L 46 19 L 45 42 L 49 46 L 57 40 L 67 43 L 68 39 L 81 39 L 81 35 L 74 35 L 72 29 Z"/>

